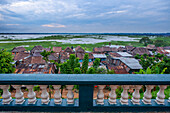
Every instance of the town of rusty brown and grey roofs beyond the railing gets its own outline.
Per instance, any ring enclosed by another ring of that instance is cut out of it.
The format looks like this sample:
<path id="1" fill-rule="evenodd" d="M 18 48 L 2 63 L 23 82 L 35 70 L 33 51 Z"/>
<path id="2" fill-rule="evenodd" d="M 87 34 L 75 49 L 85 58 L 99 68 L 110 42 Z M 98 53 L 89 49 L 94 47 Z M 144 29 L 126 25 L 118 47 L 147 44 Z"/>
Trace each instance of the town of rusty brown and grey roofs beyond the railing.
<path id="1" fill-rule="evenodd" d="M 48 55 L 48 63 L 43 60 L 41 52 L 47 51 L 52 53 Z M 88 54 L 88 68 L 93 66 L 95 59 L 100 59 L 99 68 L 105 70 L 114 70 L 115 74 L 133 74 L 143 69 L 139 63 L 140 59 L 136 59 L 136 55 L 148 55 L 153 57 L 154 54 L 164 54 L 170 57 L 170 47 L 155 47 L 155 45 L 147 45 L 147 47 L 133 47 L 108 45 L 103 47 L 93 48 L 93 52 L 86 51 L 81 46 L 67 47 L 62 50 L 62 47 L 43 48 L 38 45 L 30 51 L 26 51 L 24 47 L 15 47 L 12 49 L 14 55 L 15 73 L 17 74 L 54 74 L 57 66 L 50 62 L 57 63 L 66 62 L 71 54 L 74 54 L 82 66 L 85 54 Z M 58 71 L 57 73 L 60 73 Z"/>

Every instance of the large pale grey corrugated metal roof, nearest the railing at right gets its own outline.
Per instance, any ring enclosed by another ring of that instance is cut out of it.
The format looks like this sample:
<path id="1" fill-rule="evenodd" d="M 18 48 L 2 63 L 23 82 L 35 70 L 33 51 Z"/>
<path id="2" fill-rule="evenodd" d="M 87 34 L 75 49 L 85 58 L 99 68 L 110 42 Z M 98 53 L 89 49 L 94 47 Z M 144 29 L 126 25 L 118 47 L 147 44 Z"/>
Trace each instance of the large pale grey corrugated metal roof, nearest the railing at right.
<path id="1" fill-rule="evenodd" d="M 135 58 L 119 58 L 123 63 L 125 63 L 131 69 L 142 69 L 139 61 Z"/>

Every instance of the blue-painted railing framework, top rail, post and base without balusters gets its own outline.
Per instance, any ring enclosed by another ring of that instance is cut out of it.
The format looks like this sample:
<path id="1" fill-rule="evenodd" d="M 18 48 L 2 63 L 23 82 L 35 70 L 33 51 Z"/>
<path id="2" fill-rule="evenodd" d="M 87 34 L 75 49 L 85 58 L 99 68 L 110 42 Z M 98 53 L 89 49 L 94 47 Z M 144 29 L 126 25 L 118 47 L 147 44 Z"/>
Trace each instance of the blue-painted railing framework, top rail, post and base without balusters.
<path id="1" fill-rule="evenodd" d="M 119 99 L 117 104 L 109 104 L 104 100 L 103 105 L 98 105 L 93 99 L 94 85 L 170 85 L 170 74 L 0 74 L 0 85 L 79 85 L 79 99 L 74 100 L 74 104 L 67 104 L 66 99 L 62 99 L 61 104 L 55 104 L 54 99 L 50 99 L 49 104 L 41 104 L 41 99 L 37 99 L 35 104 L 28 104 L 25 99 L 23 104 L 15 104 L 15 99 L 10 104 L 3 104 L 0 99 L 0 111 L 37 111 L 37 112 L 137 112 L 137 111 L 170 111 L 170 100 L 165 99 L 164 104 L 157 104 L 155 99 L 147 105 L 140 100 L 136 105 L 128 99 L 128 105 L 122 105 Z M 170 92 L 169 92 L 170 94 Z"/>

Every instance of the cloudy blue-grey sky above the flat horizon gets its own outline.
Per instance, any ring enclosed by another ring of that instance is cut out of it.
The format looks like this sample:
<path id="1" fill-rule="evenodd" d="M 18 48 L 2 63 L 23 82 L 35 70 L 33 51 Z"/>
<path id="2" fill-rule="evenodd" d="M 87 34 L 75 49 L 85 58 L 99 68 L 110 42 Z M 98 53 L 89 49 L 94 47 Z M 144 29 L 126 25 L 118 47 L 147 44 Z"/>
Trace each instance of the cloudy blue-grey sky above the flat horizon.
<path id="1" fill-rule="evenodd" d="M 170 32 L 170 0 L 0 0 L 0 33 L 151 32 Z"/>

